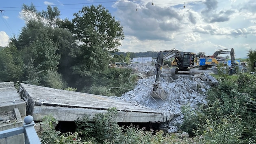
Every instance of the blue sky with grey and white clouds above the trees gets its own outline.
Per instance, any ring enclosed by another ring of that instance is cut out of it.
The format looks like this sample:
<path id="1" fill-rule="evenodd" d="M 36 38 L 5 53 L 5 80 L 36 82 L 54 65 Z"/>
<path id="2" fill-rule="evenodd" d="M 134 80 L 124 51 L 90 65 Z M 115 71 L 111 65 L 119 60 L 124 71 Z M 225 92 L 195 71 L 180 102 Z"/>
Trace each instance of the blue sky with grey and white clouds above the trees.
<path id="1" fill-rule="evenodd" d="M 242 58 L 256 50 L 256 0 L 2 0 L 0 46 L 20 34 L 22 4 L 31 3 L 37 11 L 57 6 L 60 18 L 70 21 L 83 6 L 102 4 L 124 28 L 121 52 L 175 48 L 213 55 L 234 48 L 235 57 Z"/>

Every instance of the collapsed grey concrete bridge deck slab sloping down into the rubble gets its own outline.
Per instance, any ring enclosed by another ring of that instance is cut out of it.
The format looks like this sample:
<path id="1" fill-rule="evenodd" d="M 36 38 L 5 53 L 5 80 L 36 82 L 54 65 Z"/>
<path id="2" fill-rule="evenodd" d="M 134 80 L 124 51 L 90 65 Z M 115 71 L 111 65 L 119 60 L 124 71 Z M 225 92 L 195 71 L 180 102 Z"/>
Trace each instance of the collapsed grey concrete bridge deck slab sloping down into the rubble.
<path id="1" fill-rule="evenodd" d="M 34 121 L 41 121 L 43 116 L 51 114 L 56 121 L 74 121 L 85 114 L 93 121 L 97 113 L 115 107 L 118 111 L 117 122 L 147 123 L 163 122 L 165 117 L 158 110 L 145 108 L 124 102 L 113 97 L 79 93 L 48 87 L 21 83 L 19 93 L 27 101 L 27 114 Z"/>

